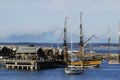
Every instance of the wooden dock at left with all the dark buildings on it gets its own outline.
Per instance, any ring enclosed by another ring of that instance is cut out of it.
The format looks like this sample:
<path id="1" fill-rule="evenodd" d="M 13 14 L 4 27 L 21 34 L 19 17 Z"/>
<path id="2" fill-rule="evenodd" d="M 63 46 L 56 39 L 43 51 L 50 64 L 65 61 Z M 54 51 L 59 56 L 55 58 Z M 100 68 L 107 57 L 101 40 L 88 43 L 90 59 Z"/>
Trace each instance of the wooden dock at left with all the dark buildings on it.
<path id="1" fill-rule="evenodd" d="M 7 53 L 6 53 L 7 51 Z M 7 47 L 1 48 L 0 64 L 6 69 L 16 70 L 40 70 L 57 67 L 59 60 L 51 55 L 55 54 L 53 49 L 36 46 L 19 46 L 15 51 Z M 51 52 L 51 53 L 50 53 Z M 9 54 L 8 54 L 9 53 Z M 47 56 L 47 54 L 51 54 Z M 7 54 L 7 55 L 3 55 Z"/>

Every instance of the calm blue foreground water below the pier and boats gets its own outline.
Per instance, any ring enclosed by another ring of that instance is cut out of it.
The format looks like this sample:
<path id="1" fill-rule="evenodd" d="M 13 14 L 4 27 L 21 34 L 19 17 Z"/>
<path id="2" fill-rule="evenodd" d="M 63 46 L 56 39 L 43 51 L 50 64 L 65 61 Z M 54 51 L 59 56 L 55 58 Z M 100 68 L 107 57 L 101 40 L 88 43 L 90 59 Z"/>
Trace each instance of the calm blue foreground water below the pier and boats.
<path id="1" fill-rule="evenodd" d="M 85 69 L 77 75 L 67 75 L 63 68 L 33 72 L 0 69 L 0 80 L 120 80 L 120 65 L 103 61 L 100 68 Z"/>

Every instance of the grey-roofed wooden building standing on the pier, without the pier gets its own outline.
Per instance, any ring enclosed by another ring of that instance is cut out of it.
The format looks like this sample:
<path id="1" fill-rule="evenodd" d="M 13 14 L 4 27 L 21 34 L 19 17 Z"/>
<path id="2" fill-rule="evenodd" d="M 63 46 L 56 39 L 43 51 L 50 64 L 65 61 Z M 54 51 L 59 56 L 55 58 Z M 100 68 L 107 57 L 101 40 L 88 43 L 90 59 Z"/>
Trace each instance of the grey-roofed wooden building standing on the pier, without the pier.
<path id="1" fill-rule="evenodd" d="M 20 46 L 16 51 L 19 60 L 45 60 L 47 56 L 40 47 Z"/>

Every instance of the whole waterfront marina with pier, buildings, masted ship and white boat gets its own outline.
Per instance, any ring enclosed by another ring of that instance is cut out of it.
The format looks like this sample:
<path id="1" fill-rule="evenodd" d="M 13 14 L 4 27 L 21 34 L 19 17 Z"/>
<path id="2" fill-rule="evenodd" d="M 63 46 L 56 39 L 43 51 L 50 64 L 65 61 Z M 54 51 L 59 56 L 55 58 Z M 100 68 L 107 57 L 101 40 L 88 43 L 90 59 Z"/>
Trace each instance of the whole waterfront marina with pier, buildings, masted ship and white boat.
<path id="1" fill-rule="evenodd" d="M 1 46 L 0 50 L 0 58 L 1 65 L 5 65 L 7 69 L 20 69 L 20 70 L 39 70 L 39 69 L 49 69 L 59 67 L 58 65 L 67 66 L 65 67 L 65 72 L 67 74 L 74 73 L 82 73 L 84 68 L 96 68 L 101 65 L 102 59 L 108 59 L 110 61 L 111 54 L 108 50 L 109 54 L 106 55 L 98 55 L 98 53 L 94 52 L 93 49 L 90 49 L 90 52 L 85 52 L 85 46 L 87 43 L 95 37 L 92 35 L 86 41 L 83 40 L 83 27 L 82 27 L 82 12 L 80 13 L 80 27 L 79 27 L 79 48 L 73 52 L 68 53 L 68 45 L 67 45 L 67 19 L 65 17 L 64 23 L 64 39 L 63 39 L 63 48 L 53 48 L 53 47 L 40 47 L 40 46 Z M 110 39 L 108 39 L 110 42 Z M 120 44 L 120 43 L 119 43 Z M 109 47 L 110 45 L 108 45 Z M 102 47 L 103 48 L 103 47 Z M 110 47 L 108 48 L 110 49 Z M 118 50 L 119 53 L 119 50 Z M 69 58 L 71 55 L 75 55 L 75 58 L 78 58 L 74 61 L 74 59 Z M 113 59 L 119 59 L 119 54 L 117 57 L 112 57 Z M 114 61 L 114 63 L 116 63 Z"/>

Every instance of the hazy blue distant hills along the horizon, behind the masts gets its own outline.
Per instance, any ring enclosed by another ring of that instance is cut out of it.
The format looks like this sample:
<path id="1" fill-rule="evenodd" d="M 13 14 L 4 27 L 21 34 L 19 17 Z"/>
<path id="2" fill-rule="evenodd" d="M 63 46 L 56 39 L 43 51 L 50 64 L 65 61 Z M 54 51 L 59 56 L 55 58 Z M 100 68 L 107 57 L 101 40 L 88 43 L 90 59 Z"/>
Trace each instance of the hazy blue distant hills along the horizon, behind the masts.
<path id="1" fill-rule="evenodd" d="M 90 36 L 91 37 L 91 36 Z M 88 40 L 90 37 L 84 36 L 84 41 Z M 79 42 L 79 36 L 73 36 L 73 42 Z M 24 35 L 11 35 L 9 37 L 0 38 L 0 42 L 33 42 L 33 43 L 62 43 L 63 34 L 57 34 L 54 31 L 44 32 L 38 35 L 24 34 Z M 71 34 L 67 33 L 67 42 L 71 42 Z M 98 39 L 93 38 L 90 42 L 93 43 L 107 43 L 107 39 L 100 37 Z M 89 42 L 88 42 L 89 43 Z M 116 42 L 115 42 L 116 43 Z"/>

